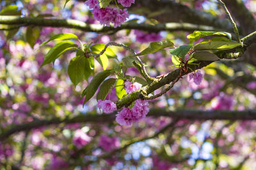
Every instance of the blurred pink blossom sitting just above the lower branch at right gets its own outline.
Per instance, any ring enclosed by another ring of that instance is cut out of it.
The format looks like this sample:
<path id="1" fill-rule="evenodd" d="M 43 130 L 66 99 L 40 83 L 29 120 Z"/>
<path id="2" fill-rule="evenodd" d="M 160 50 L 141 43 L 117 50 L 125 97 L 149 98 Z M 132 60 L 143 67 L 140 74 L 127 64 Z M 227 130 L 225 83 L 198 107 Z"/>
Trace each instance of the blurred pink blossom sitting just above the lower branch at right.
<path id="1" fill-rule="evenodd" d="M 234 105 L 234 99 L 232 96 L 220 93 L 220 95 L 211 102 L 212 109 L 218 110 L 232 110 Z"/>

